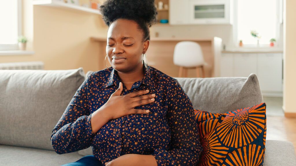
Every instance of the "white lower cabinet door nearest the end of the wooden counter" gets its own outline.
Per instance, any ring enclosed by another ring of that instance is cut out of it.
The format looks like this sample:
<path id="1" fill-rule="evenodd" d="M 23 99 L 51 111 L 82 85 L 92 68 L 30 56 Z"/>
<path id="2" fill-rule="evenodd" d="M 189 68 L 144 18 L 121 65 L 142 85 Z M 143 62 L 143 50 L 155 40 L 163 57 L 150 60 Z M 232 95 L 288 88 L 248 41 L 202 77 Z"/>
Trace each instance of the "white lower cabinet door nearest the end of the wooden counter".
<path id="1" fill-rule="evenodd" d="M 233 54 L 221 54 L 220 77 L 233 77 Z"/>

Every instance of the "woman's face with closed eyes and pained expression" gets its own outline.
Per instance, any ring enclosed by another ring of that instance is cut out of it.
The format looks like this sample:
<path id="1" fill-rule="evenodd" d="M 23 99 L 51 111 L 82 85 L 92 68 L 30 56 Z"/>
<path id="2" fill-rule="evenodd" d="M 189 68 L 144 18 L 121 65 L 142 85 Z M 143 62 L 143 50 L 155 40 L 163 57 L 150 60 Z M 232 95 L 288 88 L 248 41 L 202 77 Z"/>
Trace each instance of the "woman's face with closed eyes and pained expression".
<path id="1" fill-rule="evenodd" d="M 128 73 L 143 66 L 142 53 L 146 53 L 149 46 L 149 40 L 142 42 L 143 34 L 132 20 L 117 19 L 112 22 L 107 34 L 106 53 L 115 70 Z"/>

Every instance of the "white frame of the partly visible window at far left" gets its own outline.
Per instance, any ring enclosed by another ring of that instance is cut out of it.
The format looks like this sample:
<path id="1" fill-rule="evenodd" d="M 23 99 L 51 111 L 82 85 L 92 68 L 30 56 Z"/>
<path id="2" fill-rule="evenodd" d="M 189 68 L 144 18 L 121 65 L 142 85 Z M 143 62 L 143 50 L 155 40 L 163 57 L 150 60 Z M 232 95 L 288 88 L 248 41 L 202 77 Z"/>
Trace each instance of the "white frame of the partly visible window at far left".
<path id="1" fill-rule="evenodd" d="M 22 35 L 22 0 L 17 0 L 17 35 Z M 0 44 L 0 51 L 19 50 L 18 44 Z"/>

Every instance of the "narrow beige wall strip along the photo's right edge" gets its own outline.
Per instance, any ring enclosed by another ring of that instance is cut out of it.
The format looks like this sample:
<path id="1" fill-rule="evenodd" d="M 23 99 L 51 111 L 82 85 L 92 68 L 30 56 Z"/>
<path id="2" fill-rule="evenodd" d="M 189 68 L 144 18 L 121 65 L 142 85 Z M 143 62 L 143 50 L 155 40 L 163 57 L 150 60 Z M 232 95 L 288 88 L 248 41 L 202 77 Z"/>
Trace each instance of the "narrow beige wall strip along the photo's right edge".
<path id="1" fill-rule="evenodd" d="M 296 113 L 296 1 L 285 0 L 284 14 L 284 111 L 285 113 Z"/>

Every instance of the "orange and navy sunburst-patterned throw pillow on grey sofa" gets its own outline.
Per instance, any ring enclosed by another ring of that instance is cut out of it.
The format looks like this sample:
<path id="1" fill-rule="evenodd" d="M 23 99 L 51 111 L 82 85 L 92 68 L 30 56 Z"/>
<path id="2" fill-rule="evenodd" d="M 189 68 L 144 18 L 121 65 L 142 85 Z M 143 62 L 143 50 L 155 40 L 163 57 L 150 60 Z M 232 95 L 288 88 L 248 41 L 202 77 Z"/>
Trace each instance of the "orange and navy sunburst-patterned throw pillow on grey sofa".
<path id="1" fill-rule="evenodd" d="M 224 114 L 194 110 L 203 152 L 198 165 L 262 166 L 266 103 Z"/>

